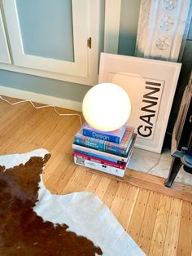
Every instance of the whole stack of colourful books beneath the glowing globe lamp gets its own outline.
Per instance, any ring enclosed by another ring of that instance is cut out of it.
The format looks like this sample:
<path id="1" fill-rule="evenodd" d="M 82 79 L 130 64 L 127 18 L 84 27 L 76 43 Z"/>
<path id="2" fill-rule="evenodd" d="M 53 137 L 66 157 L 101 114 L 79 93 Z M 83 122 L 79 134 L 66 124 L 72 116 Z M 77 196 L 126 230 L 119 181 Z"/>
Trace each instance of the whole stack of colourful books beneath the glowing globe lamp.
<path id="1" fill-rule="evenodd" d="M 85 123 L 72 144 L 74 162 L 123 177 L 136 139 L 134 127 L 126 124 L 118 130 L 103 132 Z"/>

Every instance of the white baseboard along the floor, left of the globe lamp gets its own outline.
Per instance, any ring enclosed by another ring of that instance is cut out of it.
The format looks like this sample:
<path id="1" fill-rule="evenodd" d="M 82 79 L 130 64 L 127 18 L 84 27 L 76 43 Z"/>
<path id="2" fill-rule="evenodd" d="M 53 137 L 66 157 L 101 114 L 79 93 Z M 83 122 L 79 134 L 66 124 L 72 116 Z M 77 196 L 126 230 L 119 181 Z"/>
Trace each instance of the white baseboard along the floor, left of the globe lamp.
<path id="1" fill-rule="evenodd" d="M 18 90 L 6 86 L 0 86 L 0 95 L 18 99 L 27 99 L 40 104 L 54 105 L 55 107 L 68 108 L 76 111 L 82 110 L 82 103 L 75 100 L 62 99 L 48 95 L 41 95 L 35 92 Z"/>

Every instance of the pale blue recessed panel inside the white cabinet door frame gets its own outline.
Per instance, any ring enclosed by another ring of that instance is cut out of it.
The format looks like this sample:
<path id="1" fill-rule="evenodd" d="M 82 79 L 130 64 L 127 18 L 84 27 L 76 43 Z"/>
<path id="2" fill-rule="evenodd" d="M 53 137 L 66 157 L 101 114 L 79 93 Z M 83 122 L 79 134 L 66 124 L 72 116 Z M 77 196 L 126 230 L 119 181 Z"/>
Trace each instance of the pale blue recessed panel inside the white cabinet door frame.
<path id="1" fill-rule="evenodd" d="M 72 1 L 56 3 L 16 0 L 24 54 L 73 62 Z"/>

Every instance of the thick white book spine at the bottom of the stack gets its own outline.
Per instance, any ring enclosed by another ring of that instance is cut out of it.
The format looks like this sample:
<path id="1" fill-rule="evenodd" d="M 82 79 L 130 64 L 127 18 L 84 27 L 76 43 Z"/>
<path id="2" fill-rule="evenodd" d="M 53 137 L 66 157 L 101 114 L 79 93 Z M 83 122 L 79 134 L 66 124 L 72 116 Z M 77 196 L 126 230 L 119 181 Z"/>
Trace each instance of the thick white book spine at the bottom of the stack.
<path id="1" fill-rule="evenodd" d="M 80 165 L 80 166 L 85 166 L 94 170 L 100 170 L 103 171 L 107 174 L 113 174 L 119 177 L 123 177 L 124 176 L 124 170 L 116 168 L 116 167 L 112 167 L 112 166 L 107 166 L 107 165 L 103 165 L 94 161 L 89 161 L 86 160 L 84 158 L 81 157 L 74 157 L 74 162 L 76 163 L 76 165 Z"/>

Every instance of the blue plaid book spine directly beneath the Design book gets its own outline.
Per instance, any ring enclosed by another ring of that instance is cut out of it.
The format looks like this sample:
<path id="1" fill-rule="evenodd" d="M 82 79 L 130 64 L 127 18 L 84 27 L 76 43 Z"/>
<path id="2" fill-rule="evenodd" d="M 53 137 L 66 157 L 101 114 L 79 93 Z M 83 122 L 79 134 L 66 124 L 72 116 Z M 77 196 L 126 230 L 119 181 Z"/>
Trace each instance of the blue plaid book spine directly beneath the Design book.
<path id="1" fill-rule="evenodd" d="M 109 143 L 107 141 L 104 140 L 99 140 L 99 143 L 94 141 L 94 138 L 89 138 L 86 139 L 88 137 L 82 138 L 79 136 L 75 136 L 74 139 L 74 143 L 81 145 L 83 147 L 87 147 L 87 148 L 93 148 L 99 151 L 104 151 L 104 152 L 109 152 L 111 154 L 116 154 L 118 156 L 122 156 L 125 157 L 127 152 L 125 152 L 124 148 L 120 148 L 120 147 L 110 147 L 109 145 L 107 146 L 106 143 Z M 93 140 L 92 140 L 93 139 Z M 119 145 L 118 143 L 116 143 L 116 145 Z M 129 146 L 128 146 L 129 148 Z"/>

